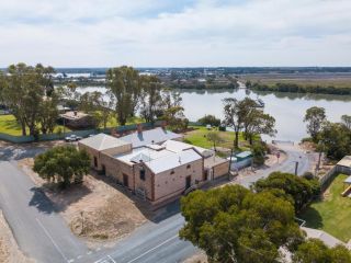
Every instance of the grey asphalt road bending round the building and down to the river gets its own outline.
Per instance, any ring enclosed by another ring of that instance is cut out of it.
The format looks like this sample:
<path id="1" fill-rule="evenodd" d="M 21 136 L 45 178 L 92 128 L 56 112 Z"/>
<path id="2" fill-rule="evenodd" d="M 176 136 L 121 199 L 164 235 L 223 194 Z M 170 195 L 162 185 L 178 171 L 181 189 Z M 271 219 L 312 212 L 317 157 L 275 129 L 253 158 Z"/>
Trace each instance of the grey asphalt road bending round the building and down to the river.
<path id="1" fill-rule="evenodd" d="M 287 153 L 283 163 L 252 176 L 241 178 L 237 183 L 248 187 L 273 171 L 294 172 L 295 161 L 299 163 L 298 174 L 308 170 L 308 158 L 297 146 L 280 145 L 280 148 Z M 41 150 L 26 152 L 22 149 L 20 157 L 35 155 Z M 4 159 L 0 161 L 0 207 L 20 248 L 37 262 L 168 263 L 182 262 L 197 250 L 178 237 L 184 219 L 174 203 L 167 207 L 169 211 L 163 215 L 166 219 L 158 218 L 145 224 L 113 248 L 89 251 L 70 232 L 47 197 L 16 167 L 14 160 L 21 159 L 18 153 L 14 155 L 13 149 L 0 151 L 1 159 Z"/>

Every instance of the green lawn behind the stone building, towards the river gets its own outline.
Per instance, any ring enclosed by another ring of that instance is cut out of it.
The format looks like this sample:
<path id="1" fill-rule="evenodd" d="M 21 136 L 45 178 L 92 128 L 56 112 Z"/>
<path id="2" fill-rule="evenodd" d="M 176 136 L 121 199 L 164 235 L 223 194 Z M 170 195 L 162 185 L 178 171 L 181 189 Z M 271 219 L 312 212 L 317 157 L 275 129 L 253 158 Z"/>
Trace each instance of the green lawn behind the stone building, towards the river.
<path id="1" fill-rule="evenodd" d="M 184 136 L 185 141 L 194 146 L 199 146 L 207 149 L 212 148 L 213 142 L 210 141 L 206 137 L 206 135 L 212 130 L 208 130 L 206 127 L 201 127 L 201 126 L 193 126 L 193 128 L 194 130 L 185 133 L 185 136 Z M 217 146 L 231 149 L 235 133 L 218 132 L 218 134 L 223 141 Z M 259 139 L 259 136 L 257 136 L 256 139 Z M 239 134 L 239 147 L 240 147 L 240 150 L 247 150 L 250 148 L 249 142 L 244 139 L 242 133 Z"/>

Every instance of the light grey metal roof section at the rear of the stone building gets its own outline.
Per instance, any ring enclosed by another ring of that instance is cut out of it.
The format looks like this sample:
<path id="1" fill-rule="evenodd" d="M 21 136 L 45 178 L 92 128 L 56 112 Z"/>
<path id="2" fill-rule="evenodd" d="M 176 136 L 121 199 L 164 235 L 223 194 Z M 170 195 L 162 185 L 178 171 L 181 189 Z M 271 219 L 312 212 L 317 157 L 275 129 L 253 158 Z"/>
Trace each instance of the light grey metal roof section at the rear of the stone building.
<path id="1" fill-rule="evenodd" d="M 146 145 L 160 144 L 169 139 L 178 139 L 182 136 L 174 134 L 163 128 L 155 128 L 143 130 L 141 133 L 135 132 L 133 134 L 121 137 L 120 139 L 132 144 L 133 148 L 143 147 Z"/>

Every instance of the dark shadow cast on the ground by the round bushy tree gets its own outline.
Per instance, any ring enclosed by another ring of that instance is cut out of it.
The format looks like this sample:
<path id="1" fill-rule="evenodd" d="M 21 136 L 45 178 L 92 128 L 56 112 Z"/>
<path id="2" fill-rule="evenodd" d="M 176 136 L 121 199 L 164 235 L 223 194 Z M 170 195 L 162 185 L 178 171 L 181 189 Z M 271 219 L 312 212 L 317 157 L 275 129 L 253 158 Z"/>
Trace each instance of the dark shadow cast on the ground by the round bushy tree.
<path id="1" fill-rule="evenodd" d="M 65 211 L 67 207 L 91 193 L 83 184 L 72 184 L 65 190 L 58 190 L 56 185 L 46 183 L 42 187 L 32 187 L 33 196 L 29 203 L 41 213 L 52 214 Z M 50 195 L 50 198 L 46 194 Z"/>

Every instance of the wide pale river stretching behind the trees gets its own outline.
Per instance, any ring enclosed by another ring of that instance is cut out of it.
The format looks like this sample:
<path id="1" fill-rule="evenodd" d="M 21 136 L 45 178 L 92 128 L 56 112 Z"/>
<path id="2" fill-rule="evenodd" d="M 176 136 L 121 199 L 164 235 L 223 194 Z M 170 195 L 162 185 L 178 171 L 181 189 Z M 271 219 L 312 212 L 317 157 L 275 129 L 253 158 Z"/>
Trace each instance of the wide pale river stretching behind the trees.
<path id="1" fill-rule="evenodd" d="M 105 92 L 105 88 L 80 88 L 80 92 L 99 90 Z M 264 103 L 264 112 L 271 114 L 276 121 L 278 134 L 275 139 L 299 141 L 306 137 L 306 124 L 303 122 L 308 107 L 320 106 L 326 108 L 327 117 L 331 122 L 339 122 L 341 115 L 351 115 L 351 96 L 326 94 L 298 94 L 298 93 L 265 93 L 239 90 L 179 90 L 183 99 L 185 116 L 190 121 L 196 121 L 205 114 L 213 114 L 223 118 L 223 99 L 236 98 L 261 99 Z M 265 138 L 268 139 L 268 138 Z"/>

